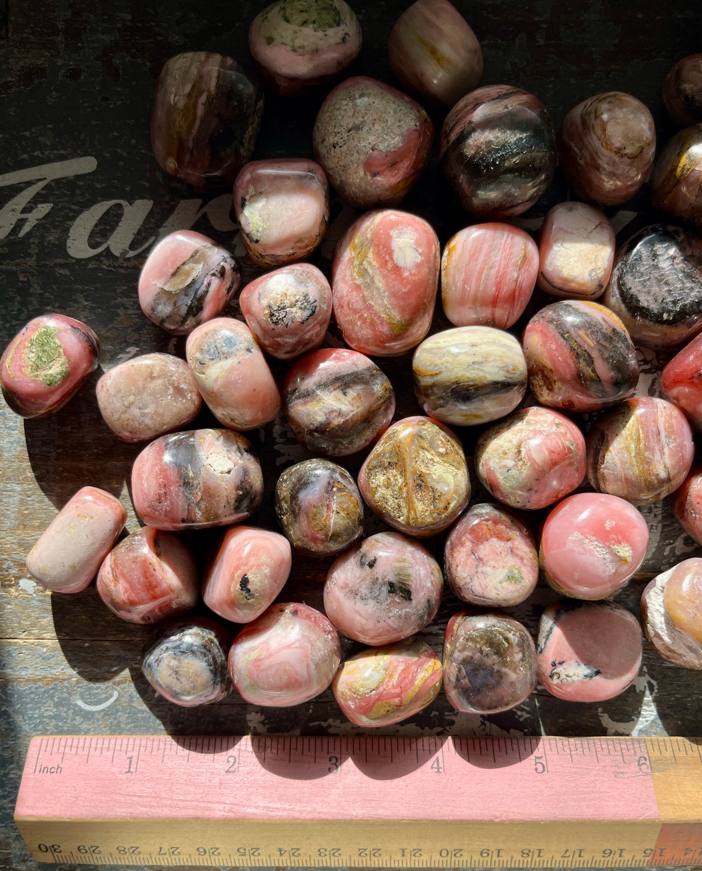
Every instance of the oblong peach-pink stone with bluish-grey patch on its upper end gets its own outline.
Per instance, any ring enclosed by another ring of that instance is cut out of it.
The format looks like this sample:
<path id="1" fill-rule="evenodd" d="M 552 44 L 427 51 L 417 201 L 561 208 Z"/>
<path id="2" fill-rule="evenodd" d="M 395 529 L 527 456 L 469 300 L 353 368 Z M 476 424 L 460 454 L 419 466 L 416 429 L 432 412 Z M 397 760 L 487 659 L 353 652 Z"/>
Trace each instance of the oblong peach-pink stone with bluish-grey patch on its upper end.
<path id="1" fill-rule="evenodd" d="M 188 336 L 185 355 L 197 389 L 217 420 L 245 432 L 280 411 L 280 391 L 251 330 L 234 318 L 215 318 Z"/>

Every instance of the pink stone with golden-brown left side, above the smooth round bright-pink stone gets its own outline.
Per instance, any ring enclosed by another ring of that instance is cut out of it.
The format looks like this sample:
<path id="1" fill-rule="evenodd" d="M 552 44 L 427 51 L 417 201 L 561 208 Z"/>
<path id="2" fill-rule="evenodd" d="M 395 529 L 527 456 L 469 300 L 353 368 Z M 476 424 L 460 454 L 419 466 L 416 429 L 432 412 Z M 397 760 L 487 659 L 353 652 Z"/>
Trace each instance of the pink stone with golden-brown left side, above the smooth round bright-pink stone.
<path id="1" fill-rule="evenodd" d="M 685 415 L 653 396 L 634 396 L 611 408 L 587 434 L 592 487 L 634 505 L 657 502 L 677 490 L 693 456 Z"/>

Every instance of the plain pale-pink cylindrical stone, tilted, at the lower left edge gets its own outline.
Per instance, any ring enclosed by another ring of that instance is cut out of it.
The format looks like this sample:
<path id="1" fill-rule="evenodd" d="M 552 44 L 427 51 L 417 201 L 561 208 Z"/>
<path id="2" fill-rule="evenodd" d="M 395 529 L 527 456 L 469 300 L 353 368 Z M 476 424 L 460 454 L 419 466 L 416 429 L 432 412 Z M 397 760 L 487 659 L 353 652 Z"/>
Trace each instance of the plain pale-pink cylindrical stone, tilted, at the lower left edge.
<path id="1" fill-rule="evenodd" d="M 27 571 L 48 590 L 84 590 L 126 520 L 124 506 L 110 493 L 97 487 L 78 490 L 30 550 Z"/>

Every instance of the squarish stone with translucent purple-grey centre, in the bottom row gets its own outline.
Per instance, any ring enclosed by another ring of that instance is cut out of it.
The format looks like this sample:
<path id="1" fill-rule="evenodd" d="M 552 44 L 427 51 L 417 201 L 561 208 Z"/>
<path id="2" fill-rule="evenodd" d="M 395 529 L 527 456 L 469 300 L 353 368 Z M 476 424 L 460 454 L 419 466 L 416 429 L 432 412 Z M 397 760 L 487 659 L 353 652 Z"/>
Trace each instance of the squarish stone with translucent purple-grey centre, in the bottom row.
<path id="1" fill-rule="evenodd" d="M 468 713 L 498 713 L 520 705 L 536 689 L 532 636 L 506 614 L 459 611 L 446 626 L 444 692 Z"/>

